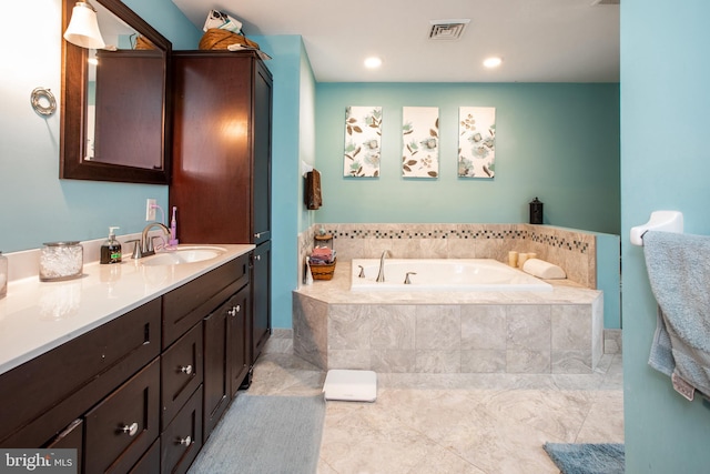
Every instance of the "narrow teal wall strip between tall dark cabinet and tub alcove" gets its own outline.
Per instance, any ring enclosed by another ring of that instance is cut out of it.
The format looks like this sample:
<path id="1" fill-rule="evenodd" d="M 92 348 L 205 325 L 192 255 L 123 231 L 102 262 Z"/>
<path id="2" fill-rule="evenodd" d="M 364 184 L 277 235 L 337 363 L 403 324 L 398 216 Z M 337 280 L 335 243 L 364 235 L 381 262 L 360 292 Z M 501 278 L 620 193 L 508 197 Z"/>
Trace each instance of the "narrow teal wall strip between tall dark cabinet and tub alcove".
<path id="1" fill-rule="evenodd" d="M 300 36 L 251 37 L 273 59 L 272 325 L 291 327 L 291 292 L 298 285 L 297 239 L 304 214 L 301 161 L 313 162 L 313 73 Z M 307 211 L 306 211 L 307 212 Z"/>

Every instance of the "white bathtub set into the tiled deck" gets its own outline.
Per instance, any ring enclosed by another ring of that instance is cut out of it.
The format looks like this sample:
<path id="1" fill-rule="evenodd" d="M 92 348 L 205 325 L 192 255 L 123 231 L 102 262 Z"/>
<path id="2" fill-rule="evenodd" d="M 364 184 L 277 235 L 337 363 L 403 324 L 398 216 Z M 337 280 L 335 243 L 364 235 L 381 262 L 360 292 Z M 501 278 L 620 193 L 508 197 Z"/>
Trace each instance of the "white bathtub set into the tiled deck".
<path id="1" fill-rule="evenodd" d="M 550 284 L 493 259 L 386 259 L 385 281 L 379 283 L 378 271 L 379 259 L 353 259 L 351 290 L 552 291 Z M 414 273 L 410 284 L 404 284 L 408 272 Z"/>

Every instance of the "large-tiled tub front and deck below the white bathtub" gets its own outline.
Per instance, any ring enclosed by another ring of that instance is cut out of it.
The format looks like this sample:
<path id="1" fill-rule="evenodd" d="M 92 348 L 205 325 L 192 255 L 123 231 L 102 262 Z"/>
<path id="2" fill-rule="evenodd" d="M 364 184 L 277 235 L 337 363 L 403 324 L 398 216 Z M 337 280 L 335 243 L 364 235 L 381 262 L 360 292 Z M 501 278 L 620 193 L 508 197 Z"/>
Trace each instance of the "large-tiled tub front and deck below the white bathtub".
<path id="1" fill-rule="evenodd" d="M 577 374 L 602 355 L 599 291 L 352 292 L 341 258 L 293 297 L 294 353 L 323 370 Z"/>

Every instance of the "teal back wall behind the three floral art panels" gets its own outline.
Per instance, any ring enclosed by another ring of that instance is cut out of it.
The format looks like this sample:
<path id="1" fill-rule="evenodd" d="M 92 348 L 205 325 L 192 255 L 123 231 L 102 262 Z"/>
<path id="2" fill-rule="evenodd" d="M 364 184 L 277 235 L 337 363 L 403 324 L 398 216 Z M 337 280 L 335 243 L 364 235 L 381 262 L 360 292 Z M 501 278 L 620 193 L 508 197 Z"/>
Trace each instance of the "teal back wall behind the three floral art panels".
<path id="1" fill-rule="evenodd" d="M 619 85 L 490 83 L 320 83 L 318 222 L 528 221 L 619 233 Z M 347 105 L 382 105 L 378 179 L 343 178 Z M 402 108 L 439 108 L 439 178 L 402 178 Z M 496 178 L 456 175 L 458 108 L 496 108 Z"/>

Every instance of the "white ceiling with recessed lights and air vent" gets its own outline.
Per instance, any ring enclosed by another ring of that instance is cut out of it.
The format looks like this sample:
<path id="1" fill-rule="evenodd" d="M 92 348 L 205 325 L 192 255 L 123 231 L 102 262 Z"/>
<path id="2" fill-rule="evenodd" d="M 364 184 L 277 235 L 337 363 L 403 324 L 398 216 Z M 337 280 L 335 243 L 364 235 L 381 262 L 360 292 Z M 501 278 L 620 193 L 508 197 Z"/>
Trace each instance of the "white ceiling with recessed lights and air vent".
<path id="1" fill-rule="evenodd" d="M 173 2 L 200 28 L 217 9 L 242 21 L 247 36 L 301 34 L 320 82 L 619 80 L 619 6 L 595 0 Z M 462 39 L 428 39 L 430 20 L 450 19 L 470 19 Z M 374 54 L 383 65 L 366 70 L 363 61 Z M 487 70 L 489 56 L 503 64 Z"/>

